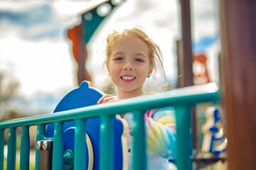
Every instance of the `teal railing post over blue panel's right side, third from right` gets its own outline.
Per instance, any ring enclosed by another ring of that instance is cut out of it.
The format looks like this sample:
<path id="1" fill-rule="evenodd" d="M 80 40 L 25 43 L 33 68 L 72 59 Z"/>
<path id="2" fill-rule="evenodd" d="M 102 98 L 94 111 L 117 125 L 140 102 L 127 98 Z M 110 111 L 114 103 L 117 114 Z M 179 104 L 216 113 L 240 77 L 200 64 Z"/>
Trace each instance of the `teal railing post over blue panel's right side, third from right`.
<path id="1" fill-rule="evenodd" d="M 104 115 L 100 122 L 100 169 L 114 168 L 113 115 Z"/>

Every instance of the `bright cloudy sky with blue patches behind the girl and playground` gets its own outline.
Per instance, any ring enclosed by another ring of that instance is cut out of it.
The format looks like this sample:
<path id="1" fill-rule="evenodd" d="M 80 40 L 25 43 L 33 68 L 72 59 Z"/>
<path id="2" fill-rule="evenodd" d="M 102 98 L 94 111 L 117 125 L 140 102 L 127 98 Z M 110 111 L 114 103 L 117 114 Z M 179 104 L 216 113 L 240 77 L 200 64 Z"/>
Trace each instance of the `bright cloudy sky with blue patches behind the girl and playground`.
<path id="1" fill-rule="evenodd" d="M 122 0 L 120 0 L 122 1 Z M 99 1 L 0 1 L 0 71 L 20 82 L 18 96 L 61 96 L 78 86 L 77 63 L 66 31 L 80 23 L 79 13 Z M 142 26 L 161 48 L 169 80 L 177 77 L 176 40 L 181 38 L 178 0 L 127 0 L 105 19 L 87 45 L 87 69 L 101 89 L 107 79 L 103 66 L 105 40 L 112 30 Z M 193 52 L 208 56 L 210 78 L 218 82 L 218 4 L 191 1 Z M 95 69 L 97 68 L 97 69 Z M 52 106 L 58 102 L 56 97 Z M 42 101 L 41 101 L 42 102 Z M 50 108 L 51 109 L 51 108 Z M 46 109 L 45 111 L 49 111 Z"/>

